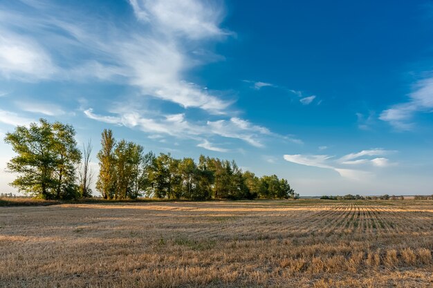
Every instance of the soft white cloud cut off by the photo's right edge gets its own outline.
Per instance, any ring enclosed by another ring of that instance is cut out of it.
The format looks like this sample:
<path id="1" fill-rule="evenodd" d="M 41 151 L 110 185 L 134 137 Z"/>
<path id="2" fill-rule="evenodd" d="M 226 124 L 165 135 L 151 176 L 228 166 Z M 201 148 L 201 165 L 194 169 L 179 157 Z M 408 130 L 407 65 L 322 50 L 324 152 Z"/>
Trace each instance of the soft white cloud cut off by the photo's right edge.
<path id="1" fill-rule="evenodd" d="M 414 127 L 412 118 L 416 113 L 431 113 L 432 109 L 433 77 L 418 81 L 407 102 L 386 109 L 380 114 L 379 119 L 389 122 L 400 131 L 409 131 Z"/>

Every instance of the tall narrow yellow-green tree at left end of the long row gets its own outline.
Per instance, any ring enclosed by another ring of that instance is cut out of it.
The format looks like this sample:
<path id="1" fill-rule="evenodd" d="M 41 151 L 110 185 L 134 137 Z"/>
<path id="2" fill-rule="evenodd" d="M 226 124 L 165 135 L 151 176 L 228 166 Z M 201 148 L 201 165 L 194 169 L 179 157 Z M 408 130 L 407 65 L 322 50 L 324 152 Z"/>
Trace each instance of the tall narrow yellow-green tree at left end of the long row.
<path id="1" fill-rule="evenodd" d="M 104 199 L 112 199 L 116 191 L 116 157 L 114 155 L 116 140 L 113 137 L 113 131 L 104 129 L 101 146 L 97 156 L 100 172 L 96 189 L 100 191 Z"/>

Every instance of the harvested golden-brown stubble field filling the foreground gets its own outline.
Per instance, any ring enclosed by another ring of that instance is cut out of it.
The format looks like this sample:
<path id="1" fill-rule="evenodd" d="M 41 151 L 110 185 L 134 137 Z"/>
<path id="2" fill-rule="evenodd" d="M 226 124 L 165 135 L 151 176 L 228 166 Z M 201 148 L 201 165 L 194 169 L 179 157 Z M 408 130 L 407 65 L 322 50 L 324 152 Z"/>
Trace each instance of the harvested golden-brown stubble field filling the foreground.
<path id="1" fill-rule="evenodd" d="M 1 287 L 432 287 L 433 201 L 0 207 Z"/>

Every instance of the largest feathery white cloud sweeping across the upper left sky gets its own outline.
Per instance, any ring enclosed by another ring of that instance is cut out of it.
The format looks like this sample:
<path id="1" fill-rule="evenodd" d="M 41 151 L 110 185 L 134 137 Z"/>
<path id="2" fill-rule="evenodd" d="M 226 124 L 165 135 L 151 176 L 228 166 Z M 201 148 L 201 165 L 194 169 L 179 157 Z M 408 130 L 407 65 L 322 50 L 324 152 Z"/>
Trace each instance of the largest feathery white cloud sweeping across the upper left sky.
<path id="1" fill-rule="evenodd" d="M 28 17 L 0 5 L 0 73 L 18 79 L 120 81 L 144 97 L 225 113 L 230 102 L 185 79 L 190 68 L 207 61 L 206 53 L 194 58 L 192 52 L 228 34 L 219 28 L 223 9 L 198 0 L 129 3 L 138 22 L 127 27 L 51 2 L 30 1 L 35 9 Z M 17 29 L 27 36 L 18 37 L 12 32 Z"/>

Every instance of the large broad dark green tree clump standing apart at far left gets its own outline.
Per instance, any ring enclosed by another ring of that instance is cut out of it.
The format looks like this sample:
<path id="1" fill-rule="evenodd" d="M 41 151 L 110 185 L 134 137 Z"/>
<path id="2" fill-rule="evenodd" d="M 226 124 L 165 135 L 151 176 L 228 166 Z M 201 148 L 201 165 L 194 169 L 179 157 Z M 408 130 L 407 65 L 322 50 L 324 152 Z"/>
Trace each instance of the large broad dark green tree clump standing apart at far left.
<path id="1" fill-rule="evenodd" d="M 5 142 L 17 153 L 8 162 L 8 170 L 19 173 L 12 186 L 44 199 L 80 197 L 75 182 L 81 152 L 72 126 L 40 119 L 29 128 L 17 126 Z"/>

